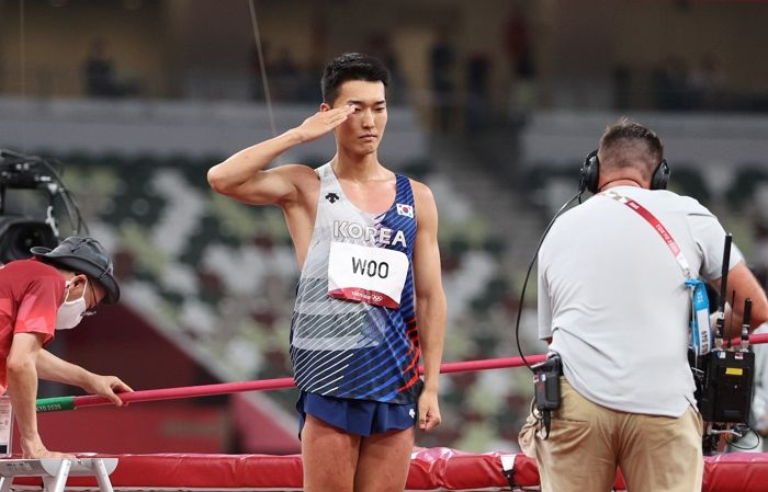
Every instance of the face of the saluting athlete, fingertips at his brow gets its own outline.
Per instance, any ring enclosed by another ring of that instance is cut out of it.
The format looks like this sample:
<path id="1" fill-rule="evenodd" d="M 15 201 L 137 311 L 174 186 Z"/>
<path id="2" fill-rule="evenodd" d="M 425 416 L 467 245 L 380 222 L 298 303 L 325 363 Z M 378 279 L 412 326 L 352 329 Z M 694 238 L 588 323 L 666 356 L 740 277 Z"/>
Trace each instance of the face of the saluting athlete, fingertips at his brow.
<path id="1" fill-rule="evenodd" d="M 338 145 L 354 153 L 375 152 L 386 127 L 384 84 L 363 80 L 342 83 L 332 107 L 346 104 L 354 107 L 354 113 L 334 130 Z"/>

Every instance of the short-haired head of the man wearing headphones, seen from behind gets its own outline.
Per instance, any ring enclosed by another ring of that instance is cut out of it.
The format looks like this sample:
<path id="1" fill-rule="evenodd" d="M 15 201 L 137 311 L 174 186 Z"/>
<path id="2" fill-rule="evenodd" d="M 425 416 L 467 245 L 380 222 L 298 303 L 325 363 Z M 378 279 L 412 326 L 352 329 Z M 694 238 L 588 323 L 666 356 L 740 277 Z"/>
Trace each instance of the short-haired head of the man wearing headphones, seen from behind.
<path id="1" fill-rule="evenodd" d="M 650 183 L 664 159 L 664 146 L 653 130 L 622 118 L 606 128 L 598 155 L 601 175 L 639 174 Z"/>

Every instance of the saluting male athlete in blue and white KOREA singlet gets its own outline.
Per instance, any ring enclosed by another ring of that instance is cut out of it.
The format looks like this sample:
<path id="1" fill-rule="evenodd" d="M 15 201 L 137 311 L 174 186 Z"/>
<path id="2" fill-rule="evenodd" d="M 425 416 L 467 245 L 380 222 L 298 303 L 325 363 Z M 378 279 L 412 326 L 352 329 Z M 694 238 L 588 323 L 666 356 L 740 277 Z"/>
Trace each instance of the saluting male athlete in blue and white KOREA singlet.
<path id="1" fill-rule="evenodd" d="M 416 422 L 440 424 L 438 213 L 427 186 L 379 161 L 388 78 L 366 55 L 331 60 L 318 113 L 208 171 L 218 193 L 285 214 L 302 268 L 291 358 L 309 492 L 402 491 Z M 325 165 L 264 170 L 329 131 L 337 150 Z"/>

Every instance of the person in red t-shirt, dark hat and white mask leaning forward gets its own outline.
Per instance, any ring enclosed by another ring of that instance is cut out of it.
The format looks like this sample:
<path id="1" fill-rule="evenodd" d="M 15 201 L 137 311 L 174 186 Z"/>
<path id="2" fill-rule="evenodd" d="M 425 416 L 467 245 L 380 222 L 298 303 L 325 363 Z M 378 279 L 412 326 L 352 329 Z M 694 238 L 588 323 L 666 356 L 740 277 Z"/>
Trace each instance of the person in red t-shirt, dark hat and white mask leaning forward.
<path id="1" fill-rule="evenodd" d="M 79 386 L 122 405 L 133 391 L 115 376 L 101 376 L 43 348 L 56 330 L 75 328 L 99 302 L 114 304 L 120 287 L 99 241 L 72 236 L 54 250 L 32 249 L 33 259 L 0 267 L 0 393 L 8 389 L 24 458 L 70 458 L 49 451 L 37 433 L 37 379 Z"/>

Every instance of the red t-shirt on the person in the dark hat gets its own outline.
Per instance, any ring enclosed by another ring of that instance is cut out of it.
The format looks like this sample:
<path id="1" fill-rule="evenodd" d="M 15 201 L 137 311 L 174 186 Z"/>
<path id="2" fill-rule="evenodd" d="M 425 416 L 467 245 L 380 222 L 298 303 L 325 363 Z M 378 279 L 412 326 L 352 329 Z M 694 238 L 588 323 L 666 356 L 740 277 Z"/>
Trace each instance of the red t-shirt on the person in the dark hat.
<path id="1" fill-rule="evenodd" d="M 0 394 L 8 386 L 5 359 L 13 335 L 43 333 L 43 343 L 49 342 L 56 331 L 64 286 L 58 270 L 36 260 L 18 260 L 0 267 Z"/>

